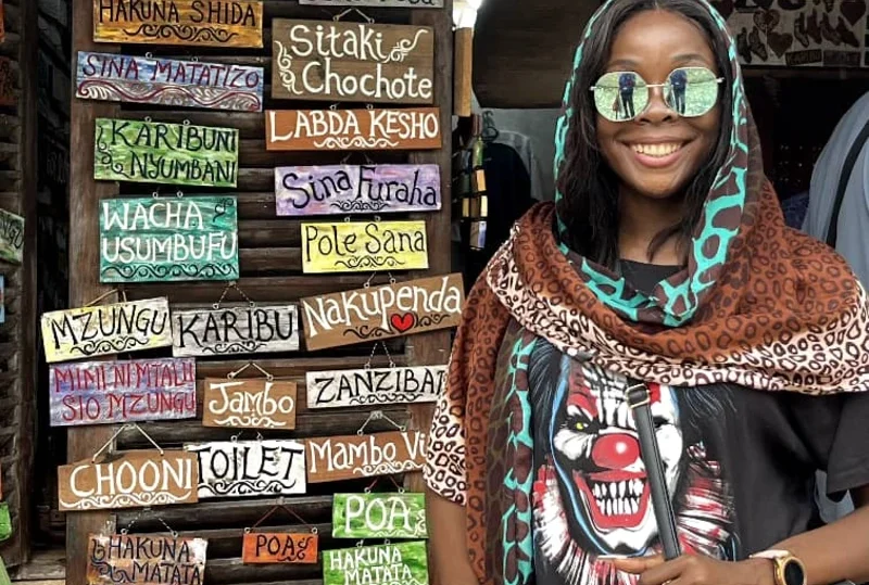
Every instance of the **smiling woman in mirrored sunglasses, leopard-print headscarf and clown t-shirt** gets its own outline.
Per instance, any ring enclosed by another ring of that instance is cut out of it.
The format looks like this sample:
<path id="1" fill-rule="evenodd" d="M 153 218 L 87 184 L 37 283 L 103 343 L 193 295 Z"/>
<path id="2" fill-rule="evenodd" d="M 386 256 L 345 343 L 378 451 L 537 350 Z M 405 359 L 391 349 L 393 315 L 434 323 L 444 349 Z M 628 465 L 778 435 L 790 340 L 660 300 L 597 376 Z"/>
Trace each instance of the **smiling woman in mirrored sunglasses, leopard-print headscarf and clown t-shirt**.
<path id="1" fill-rule="evenodd" d="M 784 227 L 735 55 L 703 0 L 610 0 L 589 23 L 556 204 L 471 291 L 429 436 L 441 584 L 869 580 L 866 293 Z M 625 74 L 630 120 L 613 110 Z M 670 561 L 625 398 L 637 381 Z M 817 469 L 858 505 L 829 526 Z"/>

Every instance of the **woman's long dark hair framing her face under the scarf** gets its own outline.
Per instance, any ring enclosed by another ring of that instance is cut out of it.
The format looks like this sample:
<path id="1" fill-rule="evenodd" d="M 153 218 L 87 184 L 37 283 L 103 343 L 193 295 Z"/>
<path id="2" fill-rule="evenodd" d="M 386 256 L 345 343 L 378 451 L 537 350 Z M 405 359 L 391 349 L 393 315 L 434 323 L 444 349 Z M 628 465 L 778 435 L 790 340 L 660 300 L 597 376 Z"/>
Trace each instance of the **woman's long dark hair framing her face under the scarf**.
<path id="1" fill-rule="evenodd" d="M 657 234 L 650 246 L 650 254 L 675 234 L 679 237 L 680 250 L 687 250 L 706 195 L 730 149 L 733 126 L 730 115 L 733 104 L 731 88 L 735 80 L 725 37 L 713 15 L 697 0 L 615 0 L 593 24 L 593 31 L 582 50 L 582 61 L 575 73 L 570 96 L 574 115 L 558 178 L 558 189 L 564 195 L 558 203 L 558 215 L 567 227 L 567 245 L 609 268 L 614 268 L 618 262 L 618 178 L 603 160 L 597 145 L 597 112 L 589 88 L 605 73 L 613 40 L 620 27 L 630 17 L 648 10 L 670 11 L 697 24 L 708 37 L 719 75 L 725 78 L 718 141 L 709 160 L 685 190 L 682 220 Z"/>

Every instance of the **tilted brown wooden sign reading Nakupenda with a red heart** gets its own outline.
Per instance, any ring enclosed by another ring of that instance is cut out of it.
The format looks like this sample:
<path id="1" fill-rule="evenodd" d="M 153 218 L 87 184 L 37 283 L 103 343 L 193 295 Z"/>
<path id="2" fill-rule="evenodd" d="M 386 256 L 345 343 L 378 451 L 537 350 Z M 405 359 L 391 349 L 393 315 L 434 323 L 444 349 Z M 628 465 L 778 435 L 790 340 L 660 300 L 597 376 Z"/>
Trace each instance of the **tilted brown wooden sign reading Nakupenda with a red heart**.
<path id="1" fill-rule="evenodd" d="M 461 274 L 302 298 L 305 346 L 337 347 L 457 327 Z"/>

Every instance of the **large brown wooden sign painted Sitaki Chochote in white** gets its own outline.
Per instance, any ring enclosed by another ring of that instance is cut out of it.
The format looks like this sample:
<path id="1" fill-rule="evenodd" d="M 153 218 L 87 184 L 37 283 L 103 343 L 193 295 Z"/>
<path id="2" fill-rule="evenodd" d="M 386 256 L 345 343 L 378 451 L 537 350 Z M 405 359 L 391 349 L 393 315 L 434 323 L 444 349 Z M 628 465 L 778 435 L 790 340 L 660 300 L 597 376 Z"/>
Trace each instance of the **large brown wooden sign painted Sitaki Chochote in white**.
<path id="1" fill-rule="evenodd" d="M 272 23 L 272 97 L 430 104 L 434 30 L 328 21 Z"/>

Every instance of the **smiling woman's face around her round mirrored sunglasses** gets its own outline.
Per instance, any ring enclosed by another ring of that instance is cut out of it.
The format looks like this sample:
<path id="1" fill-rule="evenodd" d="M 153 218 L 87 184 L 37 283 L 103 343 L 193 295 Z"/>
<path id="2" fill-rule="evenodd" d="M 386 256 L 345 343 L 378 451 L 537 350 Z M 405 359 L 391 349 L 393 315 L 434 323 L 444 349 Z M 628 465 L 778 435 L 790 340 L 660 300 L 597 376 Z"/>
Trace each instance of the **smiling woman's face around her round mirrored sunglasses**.
<path id="1" fill-rule="evenodd" d="M 607 72 L 634 72 L 647 84 L 663 84 L 677 67 L 707 67 L 719 75 L 703 30 L 663 10 L 628 20 L 613 42 Z M 679 193 L 708 160 L 720 124 L 720 106 L 685 118 L 670 110 L 662 88 L 650 89 L 648 106 L 630 122 L 597 115 L 597 142 L 625 187 L 654 199 Z"/>

